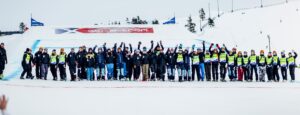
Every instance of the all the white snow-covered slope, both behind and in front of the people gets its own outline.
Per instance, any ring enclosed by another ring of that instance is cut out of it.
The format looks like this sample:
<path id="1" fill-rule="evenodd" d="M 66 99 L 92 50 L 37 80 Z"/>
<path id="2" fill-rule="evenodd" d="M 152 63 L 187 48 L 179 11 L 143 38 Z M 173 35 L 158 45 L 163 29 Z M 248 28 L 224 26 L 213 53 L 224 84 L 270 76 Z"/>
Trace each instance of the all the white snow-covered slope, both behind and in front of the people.
<path id="1" fill-rule="evenodd" d="M 64 47 L 68 51 L 71 47 L 92 47 L 104 42 L 112 46 L 115 42 L 136 45 L 142 41 L 149 46 L 151 40 L 162 40 L 165 47 L 178 43 L 188 47 L 205 40 L 258 52 L 260 49 L 267 51 L 267 35 L 270 35 L 272 50 L 294 49 L 299 53 L 299 7 L 300 2 L 289 2 L 225 13 L 216 19 L 216 27 L 198 34 L 187 32 L 183 27 L 186 20 L 180 20 L 176 25 L 153 26 L 155 33 L 145 35 L 56 35 L 54 29 L 64 27 L 37 27 L 24 35 L 0 37 L 6 44 L 9 59 L 5 70 L 8 81 L 0 81 L 0 94 L 10 98 L 8 111 L 11 115 L 298 115 L 299 70 L 296 70 L 295 83 L 53 82 L 18 78 L 27 47 L 34 51 L 38 47 Z"/>

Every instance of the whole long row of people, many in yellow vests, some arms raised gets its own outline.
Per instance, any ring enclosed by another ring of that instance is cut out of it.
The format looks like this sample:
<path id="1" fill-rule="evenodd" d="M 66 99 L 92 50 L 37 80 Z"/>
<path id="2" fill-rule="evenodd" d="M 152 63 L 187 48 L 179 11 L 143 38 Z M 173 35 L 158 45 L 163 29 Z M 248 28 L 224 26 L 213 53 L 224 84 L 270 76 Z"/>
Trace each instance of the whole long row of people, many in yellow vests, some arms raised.
<path id="1" fill-rule="evenodd" d="M 71 81 L 76 80 L 140 80 L 142 81 L 175 81 L 175 73 L 179 82 L 183 81 L 220 81 L 226 82 L 226 75 L 230 81 L 273 81 L 279 82 L 279 70 L 282 81 L 287 81 L 289 70 L 291 81 L 295 80 L 295 68 L 297 53 L 276 51 L 265 54 L 261 50 L 259 55 L 251 50 L 237 51 L 236 48 L 228 50 L 225 45 L 211 44 L 206 50 L 205 42 L 202 48 L 183 49 L 182 44 L 174 48 L 165 48 L 162 42 L 154 47 L 151 41 L 150 49 L 138 43 L 138 48 L 132 52 L 129 47 L 121 43 L 117 47 L 107 48 L 106 43 L 101 47 L 94 48 L 79 47 L 75 52 L 72 48 L 67 54 L 63 48 L 57 53 L 55 49 L 51 53 L 47 48 L 39 48 L 34 56 L 30 48 L 27 48 L 22 61 L 24 71 L 21 79 L 26 74 L 27 79 L 34 79 L 31 71 L 35 66 L 36 78 L 47 80 L 48 68 L 50 68 L 53 80 L 67 80 L 66 67 L 68 66 Z M 216 48 L 213 48 L 213 46 Z M 177 51 L 178 50 L 178 51 Z M 58 69 L 58 70 L 57 70 Z M 267 74 L 267 80 L 265 79 Z M 165 77 L 167 75 L 167 77 Z M 253 76 L 255 75 L 255 79 Z M 197 76 L 197 77 L 196 77 Z"/>

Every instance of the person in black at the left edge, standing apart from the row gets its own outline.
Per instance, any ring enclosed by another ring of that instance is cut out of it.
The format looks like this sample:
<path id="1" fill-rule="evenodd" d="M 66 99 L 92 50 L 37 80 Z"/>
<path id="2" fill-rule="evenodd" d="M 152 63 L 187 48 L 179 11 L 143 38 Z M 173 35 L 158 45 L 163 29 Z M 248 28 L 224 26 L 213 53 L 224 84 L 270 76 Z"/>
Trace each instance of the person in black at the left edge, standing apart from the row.
<path id="1" fill-rule="evenodd" d="M 4 48 L 4 43 L 0 44 L 0 80 L 4 78 L 4 69 L 7 64 L 7 55 L 6 50 Z"/>

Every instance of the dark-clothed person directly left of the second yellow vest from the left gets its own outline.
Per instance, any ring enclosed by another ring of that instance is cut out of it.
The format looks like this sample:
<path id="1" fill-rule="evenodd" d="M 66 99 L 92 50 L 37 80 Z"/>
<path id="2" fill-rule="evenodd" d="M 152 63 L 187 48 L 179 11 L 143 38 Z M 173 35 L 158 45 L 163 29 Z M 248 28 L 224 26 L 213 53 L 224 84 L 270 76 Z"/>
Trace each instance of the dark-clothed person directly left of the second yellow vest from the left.
<path id="1" fill-rule="evenodd" d="M 48 68 L 50 64 L 50 55 L 48 54 L 48 49 L 45 48 L 41 57 L 41 79 L 47 80 Z"/>

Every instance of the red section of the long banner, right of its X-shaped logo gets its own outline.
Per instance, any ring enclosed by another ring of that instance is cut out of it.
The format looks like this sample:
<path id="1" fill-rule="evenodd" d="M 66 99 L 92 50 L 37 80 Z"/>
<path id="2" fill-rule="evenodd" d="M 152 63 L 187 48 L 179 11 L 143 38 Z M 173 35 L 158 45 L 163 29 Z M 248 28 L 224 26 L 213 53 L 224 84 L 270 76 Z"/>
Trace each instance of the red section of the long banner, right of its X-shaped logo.
<path id="1" fill-rule="evenodd" d="M 80 33 L 154 33 L 152 27 L 101 27 L 78 28 Z"/>

